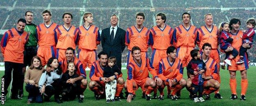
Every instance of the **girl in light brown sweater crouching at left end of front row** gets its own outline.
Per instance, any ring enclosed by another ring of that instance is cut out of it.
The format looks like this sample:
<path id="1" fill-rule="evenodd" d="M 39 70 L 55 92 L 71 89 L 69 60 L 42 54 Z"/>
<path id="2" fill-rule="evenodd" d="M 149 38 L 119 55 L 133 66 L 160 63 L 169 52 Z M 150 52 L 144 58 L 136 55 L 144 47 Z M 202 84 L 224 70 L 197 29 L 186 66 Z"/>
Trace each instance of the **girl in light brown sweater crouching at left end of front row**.
<path id="1" fill-rule="evenodd" d="M 43 98 L 39 92 L 38 82 L 44 71 L 41 64 L 41 59 L 38 56 L 34 56 L 31 61 L 31 66 L 25 73 L 24 82 L 26 83 L 26 91 L 28 92 L 27 104 L 35 101 L 36 103 L 42 103 Z"/>

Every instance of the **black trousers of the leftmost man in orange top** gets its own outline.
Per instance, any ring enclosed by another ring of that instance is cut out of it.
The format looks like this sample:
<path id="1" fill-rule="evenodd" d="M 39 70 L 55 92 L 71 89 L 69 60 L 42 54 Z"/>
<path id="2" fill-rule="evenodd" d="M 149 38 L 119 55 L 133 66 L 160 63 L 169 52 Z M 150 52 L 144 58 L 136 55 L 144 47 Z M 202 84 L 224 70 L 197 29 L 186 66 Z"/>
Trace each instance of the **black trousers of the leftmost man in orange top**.
<path id="1" fill-rule="evenodd" d="M 12 88 L 11 88 L 11 98 L 18 96 L 18 88 L 21 85 L 21 73 L 22 73 L 22 63 L 14 63 L 14 62 L 5 62 L 5 89 L 4 94 L 7 95 L 7 88 L 11 83 L 11 71 L 13 70 L 13 80 L 12 80 Z"/>

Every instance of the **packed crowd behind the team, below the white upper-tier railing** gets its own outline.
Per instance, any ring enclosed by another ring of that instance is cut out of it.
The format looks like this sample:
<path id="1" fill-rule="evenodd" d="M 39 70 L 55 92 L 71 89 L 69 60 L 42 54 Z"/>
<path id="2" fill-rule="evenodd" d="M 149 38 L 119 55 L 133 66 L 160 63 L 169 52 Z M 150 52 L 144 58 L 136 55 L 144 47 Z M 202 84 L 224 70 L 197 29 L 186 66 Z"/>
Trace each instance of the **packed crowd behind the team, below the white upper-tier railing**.
<path id="1" fill-rule="evenodd" d="M 23 12 L 25 12 L 27 9 L 14 9 L 13 11 L 8 11 L 7 9 L 0 9 L 1 13 L 3 15 L 10 15 L 9 19 L 7 20 L 7 24 L 5 24 L 5 26 L 3 26 L 2 29 L 10 29 L 12 27 L 16 26 L 16 19 L 18 18 L 22 18 L 21 16 L 24 14 Z M 40 12 L 43 11 L 43 9 L 30 9 L 31 11 L 35 11 L 34 12 L 34 23 L 35 24 L 39 24 L 41 23 L 43 20 L 41 19 L 40 16 Z M 152 12 L 150 10 L 142 10 L 142 12 L 144 12 L 146 14 L 146 21 L 144 22 L 144 26 L 150 28 L 153 27 L 154 24 L 154 20 L 153 18 L 154 13 L 159 13 L 159 12 L 163 12 L 167 14 L 167 24 L 169 24 L 171 27 L 176 27 L 179 24 L 182 23 L 181 20 L 181 13 L 185 12 L 185 9 L 178 9 L 178 11 L 176 11 L 177 9 L 164 9 L 164 8 L 159 8 L 156 9 L 156 11 Z M 62 13 L 69 11 L 71 13 L 73 13 L 74 15 L 74 19 L 73 19 L 73 25 L 75 27 L 78 27 L 80 24 L 80 17 L 81 17 L 81 13 L 78 9 L 53 9 L 53 22 L 56 22 L 58 24 L 62 24 Z M 121 10 L 121 11 L 117 11 L 115 9 L 104 9 L 104 10 L 98 10 L 98 9 L 88 9 L 86 11 L 90 11 L 91 13 L 94 13 L 96 16 L 94 18 L 94 24 L 99 27 L 100 30 L 105 29 L 106 27 L 109 26 L 108 22 L 109 22 L 109 18 L 111 14 L 118 14 L 120 17 L 120 22 L 119 22 L 119 27 L 122 29 L 127 29 L 127 26 L 132 26 L 135 24 L 134 19 L 130 18 L 131 16 L 134 17 L 135 15 L 131 15 L 136 13 L 138 10 Z M 180 12 L 182 11 L 182 12 Z M 201 9 L 201 10 L 197 10 L 197 9 L 192 9 L 190 10 L 190 13 L 192 15 L 192 24 L 194 24 L 196 27 L 200 27 L 201 25 L 203 25 L 203 17 L 200 14 L 203 13 L 213 13 L 214 15 L 214 24 L 216 26 L 219 25 L 219 23 L 223 22 L 223 21 L 228 21 L 231 20 L 231 18 L 239 18 L 242 22 L 246 22 L 247 18 L 251 17 L 251 13 L 256 13 L 255 9 L 252 10 L 245 10 L 245 9 L 230 9 L 229 11 L 221 11 L 220 9 Z M 226 17 L 228 17 L 228 19 L 226 19 Z M 3 24 L 5 22 L 5 18 L 1 18 L 0 19 L 0 23 Z M 245 30 L 246 29 L 246 24 L 241 24 L 241 30 Z M 253 46 L 254 48 L 255 46 Z M 98 46 L 98 48 L 101 48 L 101 46 Z M 249 54 L 255 55 L 255 52 L 252 52 L 251 49 L 249 50 Z M 99 51 L 99 50 L 98 50 Z M 127 55 L 126 53 L 128 53 L 127 49 L 125 49 L 124 54 L 123 55 Z M 149 49 L 149 53 L 151 53 L 151 49 Z M 222 54 L 223 55 L 223 54 Z M 1 58 L 1 62 L 3 62 L 2 57 Z M 122 62 L 126 63 L 126 56 L 123 57 Z M 251 62 L 256 62 L 256 57 L 254 56 L 250 56 L 250 61 Z M 224 57 L 223 57 L 224 59 Z"/>

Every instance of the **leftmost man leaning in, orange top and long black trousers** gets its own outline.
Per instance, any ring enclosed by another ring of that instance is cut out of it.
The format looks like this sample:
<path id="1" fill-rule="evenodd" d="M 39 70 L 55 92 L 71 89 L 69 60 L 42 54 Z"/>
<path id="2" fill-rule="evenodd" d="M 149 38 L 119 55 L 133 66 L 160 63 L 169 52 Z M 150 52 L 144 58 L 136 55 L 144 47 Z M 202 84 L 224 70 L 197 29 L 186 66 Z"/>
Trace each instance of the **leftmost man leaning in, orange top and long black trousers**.
<path id="1" fill-rule="evenodd" d="M 11 82 L 11 71 L 13 70 L 13 82 L 11 88 L 11 99 L 18 99 L 18 89 L 21 85 L 22 67 L 23 67 L 23 52 L 29 34 L 24 31 L 26 25 L 25 19 L 19 19 L 17 27 L 9 29 L 5 32 L 1 40 L 1 52 L 5 61 L 5 88 L 2 96 L 8 93 L 7 88 Z M 23 83 L 22 83 L 23 84 Z"/>

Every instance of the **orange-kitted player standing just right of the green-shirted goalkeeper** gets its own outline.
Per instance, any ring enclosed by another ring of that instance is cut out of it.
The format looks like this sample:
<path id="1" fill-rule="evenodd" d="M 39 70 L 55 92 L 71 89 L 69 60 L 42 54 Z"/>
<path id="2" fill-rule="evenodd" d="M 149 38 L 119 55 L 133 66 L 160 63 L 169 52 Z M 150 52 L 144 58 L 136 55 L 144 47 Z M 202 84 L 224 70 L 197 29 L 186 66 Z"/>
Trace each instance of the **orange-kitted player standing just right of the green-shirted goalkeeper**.
<path id="1" fill-rule="evenodd" d="M 50 10 L 44 10 L 42 15 L 43 23 L 37 26 L 37 41 L 39 44 L 37 55 L 44 66 L 50 57 L 56 56 L 55 44 L 57 43 L 57 35 L 55 29 L 59 25 L 51 21 L 52 13 Z"/>

